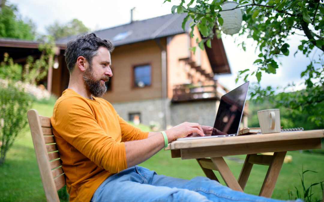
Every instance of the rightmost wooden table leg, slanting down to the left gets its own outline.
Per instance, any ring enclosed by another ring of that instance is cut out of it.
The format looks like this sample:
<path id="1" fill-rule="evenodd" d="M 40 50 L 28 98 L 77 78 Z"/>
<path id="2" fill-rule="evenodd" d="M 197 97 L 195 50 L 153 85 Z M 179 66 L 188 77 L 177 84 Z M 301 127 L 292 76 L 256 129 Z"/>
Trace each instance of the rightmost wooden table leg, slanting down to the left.
<path id="1" fill-rule="evenodd" d="M 273 154 L 273 160 L 268 168 L 267 175 L 263 181 L 259 196 L 270 198 L 274 189 L 274 185 L 277 182 L 279 172 L 284 163 L 284 157 L 287 152 L 275 152 Z"/>

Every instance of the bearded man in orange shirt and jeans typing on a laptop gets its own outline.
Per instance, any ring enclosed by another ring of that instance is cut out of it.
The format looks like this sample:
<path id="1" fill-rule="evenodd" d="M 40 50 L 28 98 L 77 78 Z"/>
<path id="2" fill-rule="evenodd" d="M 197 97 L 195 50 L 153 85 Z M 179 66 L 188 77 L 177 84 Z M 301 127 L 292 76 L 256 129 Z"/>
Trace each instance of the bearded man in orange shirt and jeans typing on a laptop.
<path id="1" fill-rule="evenodd" d="M 68 89 L 56 101 L 51 123 L 70 201 L 272 201 L 229 189 L 214 180 L 157 175 L 136 166 L 168 143 L 211 134 L 212 127 L 185 122 L 165 132 L 142 132 L 101 97 L 112 76 L 114 46 L 94 33 L 68 42 Z"/>

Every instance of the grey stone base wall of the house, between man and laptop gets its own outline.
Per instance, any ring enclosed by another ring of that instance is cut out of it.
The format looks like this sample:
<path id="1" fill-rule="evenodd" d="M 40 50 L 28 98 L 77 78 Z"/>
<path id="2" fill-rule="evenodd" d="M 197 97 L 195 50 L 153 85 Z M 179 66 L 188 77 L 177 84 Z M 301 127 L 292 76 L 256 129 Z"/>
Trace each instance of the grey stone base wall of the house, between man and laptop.
<path id="1" fill-rule="evenodd" d="M 140 113 L 141 123 L 146 125 L 156 124 L 158 130 L 165 130 L 186 121 L 214 126 L 219 101 L 172 103 L 168 100 L 165 103 L 161 99 L 155 99 L 115 102 L 112 105 L 126 121 L 130 121 L 130 113 Z"/>

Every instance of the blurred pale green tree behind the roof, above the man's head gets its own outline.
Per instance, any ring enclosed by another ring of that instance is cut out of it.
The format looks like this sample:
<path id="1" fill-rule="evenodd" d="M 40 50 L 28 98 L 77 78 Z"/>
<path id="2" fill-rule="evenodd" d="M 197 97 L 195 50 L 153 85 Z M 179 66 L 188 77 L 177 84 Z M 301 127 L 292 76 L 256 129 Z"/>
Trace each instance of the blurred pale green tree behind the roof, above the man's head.
<path id="1" fill-rule="evenodd" d="M 47 27 L 46 30 L 54 37 L 55 40 L 61 37 L 72 36 L 90 31 L 90 29 L 87 28 L 80 20 L 75 18 L 65 25 L 60 25 L 60 23 L 56 21 L 53 25 Z"/>

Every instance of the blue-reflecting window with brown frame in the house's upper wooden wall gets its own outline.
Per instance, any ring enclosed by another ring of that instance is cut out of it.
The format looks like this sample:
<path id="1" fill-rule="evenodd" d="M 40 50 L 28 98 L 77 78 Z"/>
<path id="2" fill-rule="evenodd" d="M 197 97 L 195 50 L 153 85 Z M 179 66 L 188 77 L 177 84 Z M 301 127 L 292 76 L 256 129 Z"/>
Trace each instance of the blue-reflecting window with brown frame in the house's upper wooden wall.
<path id="1" fill-rule="evenodd" d="M 151 65 L 134 67 L 134 86 L 144 87 L 151 85 Z"/>

